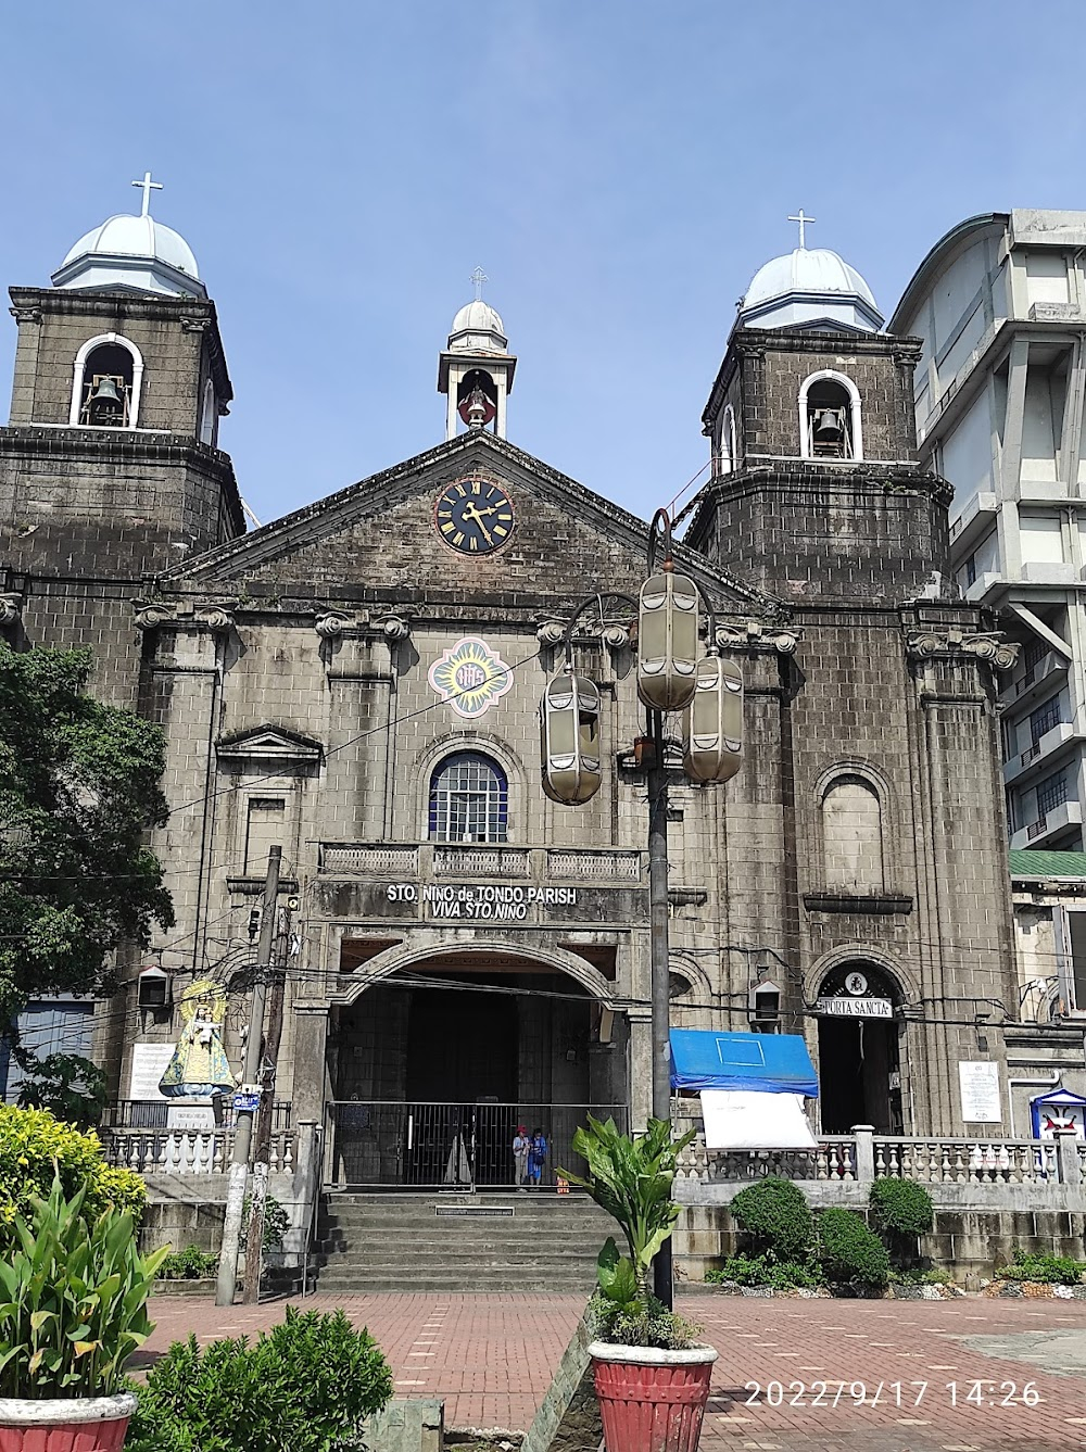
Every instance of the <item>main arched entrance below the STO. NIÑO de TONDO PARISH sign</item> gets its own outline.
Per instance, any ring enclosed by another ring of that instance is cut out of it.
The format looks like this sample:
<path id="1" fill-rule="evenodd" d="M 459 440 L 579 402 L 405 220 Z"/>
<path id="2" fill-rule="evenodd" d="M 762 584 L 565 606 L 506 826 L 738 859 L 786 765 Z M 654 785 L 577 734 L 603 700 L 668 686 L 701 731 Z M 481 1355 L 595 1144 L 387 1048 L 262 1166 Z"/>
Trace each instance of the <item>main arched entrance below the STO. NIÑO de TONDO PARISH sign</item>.
<path id="1" fill-rule="evenodd" d="M 626 1053 L 611 984 L 579 960 L 508 945 L 399 945 L 357 961 L 344 942 L 332 1011 L 334 1178 L 347 1185 L 508 1189 L 513 1143 L 540 1131 L 553 1189 L 585 1114 L 624 1115 Z M 556 961 L 558 958 L 558 961 Z M 343 982 L 343 977 L 341 977 Z"/>

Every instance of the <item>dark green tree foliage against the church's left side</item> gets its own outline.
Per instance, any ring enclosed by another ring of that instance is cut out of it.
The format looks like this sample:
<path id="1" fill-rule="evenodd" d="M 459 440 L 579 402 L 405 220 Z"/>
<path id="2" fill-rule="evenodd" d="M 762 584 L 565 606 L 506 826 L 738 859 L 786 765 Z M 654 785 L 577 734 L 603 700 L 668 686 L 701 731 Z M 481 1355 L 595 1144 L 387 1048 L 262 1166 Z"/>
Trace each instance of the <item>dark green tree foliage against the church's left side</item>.
<path id="1" fill-rule="evenodd" d="M 0 646 L 0 1024 L 110 992 L 109 954 L 173 925 L 144 844 L 166 820 L 163 732 L 86 693 L 86 650 Z"/>

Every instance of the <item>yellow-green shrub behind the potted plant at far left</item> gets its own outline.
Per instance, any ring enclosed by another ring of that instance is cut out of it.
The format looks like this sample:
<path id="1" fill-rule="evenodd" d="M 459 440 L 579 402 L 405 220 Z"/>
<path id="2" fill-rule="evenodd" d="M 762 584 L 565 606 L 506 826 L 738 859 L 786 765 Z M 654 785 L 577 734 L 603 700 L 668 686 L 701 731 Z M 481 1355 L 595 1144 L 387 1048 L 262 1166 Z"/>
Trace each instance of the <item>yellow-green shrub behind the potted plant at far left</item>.
<path id="1" fill-rule="evenodd" d="M 106 1165 L 96 1134 L 62 1124 L 48 1109 L 0 1104 L 0 1252 L 13 1243 L 15 1217 L 29 1215 L 35 1196 L 49 1194 L 54 1173 L 68 1198 L 86 1188 L 87 1218 L 112 1207 L 139 1225 L 147 1185 L 132 1170 Z"/>

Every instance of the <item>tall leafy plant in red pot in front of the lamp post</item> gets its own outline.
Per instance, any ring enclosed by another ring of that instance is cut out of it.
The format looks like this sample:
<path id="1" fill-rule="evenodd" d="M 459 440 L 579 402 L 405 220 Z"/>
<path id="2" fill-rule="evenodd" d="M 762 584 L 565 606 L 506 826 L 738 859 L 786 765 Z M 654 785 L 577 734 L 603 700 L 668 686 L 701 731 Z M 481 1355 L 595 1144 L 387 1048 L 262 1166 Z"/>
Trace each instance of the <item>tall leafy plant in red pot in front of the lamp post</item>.
<path id="1" fill-rule="evenodd" d="M 716 1350 L 649 1291 L 653 1256 L 681 1214 L 671 1199 L 675 1160 L 693 1137 L 672 1141 L 671 1125 L 650 1119 L 632 1138 L 589 1115 L 573 1135 L 588 1173 L 560 1170 L 618 1221 L 629 1247 L 624 1256 L 608 1237 L 592 1301 L 597 1339 L 588 1353 L 607 1452 L 694 1452 L 701 1435 Z"/>

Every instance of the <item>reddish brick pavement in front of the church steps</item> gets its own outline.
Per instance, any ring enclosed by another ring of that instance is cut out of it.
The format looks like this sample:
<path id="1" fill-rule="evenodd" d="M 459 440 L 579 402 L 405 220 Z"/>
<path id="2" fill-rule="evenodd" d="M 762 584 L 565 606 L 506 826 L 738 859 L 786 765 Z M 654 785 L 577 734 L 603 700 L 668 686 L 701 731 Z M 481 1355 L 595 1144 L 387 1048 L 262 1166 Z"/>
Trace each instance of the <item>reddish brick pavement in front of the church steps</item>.
<path id="1" fill-rule="evenodd" d="M 388 1355 L 396 1395 L 443 1397 L 449 1426 L 517 1430 L 530 1424 L 584 1301 L 405 1294 L 292 1304 L 343 1305 Z M 158 1297 L 151 1307 L 158 1324 L 145 1352 L 161 1352 L 189 1330 L 200 1342 L 251 1334 L 280 1320 L 283 1305 L 219 1310 L 205 1300 Z M 681 1310 L 720 1352 L 703 1452 L 1086 1448 L 1083 1302 L 791 1301 L 690 1292 Z M 1056 1375 L 1048 1365 L 1067 1374 Z M 748 1382 L 761 1385 L 759 1397 Z M 854 1382 L 864 1382 L 864 1391 Z M 923 1392 L 919 1382 L 928 1384 Z M 1040 1397 L 1034 1407 L 1022 1401 L 1028 1382 L 1029 1398 L 1034 1391 Z M 775 1384 L 780 1406 L 769 1404 L 778 1400 Z M 1000 1404 L 1005 1398 L 1008 1406 Z"/>

